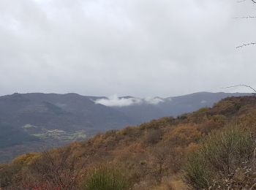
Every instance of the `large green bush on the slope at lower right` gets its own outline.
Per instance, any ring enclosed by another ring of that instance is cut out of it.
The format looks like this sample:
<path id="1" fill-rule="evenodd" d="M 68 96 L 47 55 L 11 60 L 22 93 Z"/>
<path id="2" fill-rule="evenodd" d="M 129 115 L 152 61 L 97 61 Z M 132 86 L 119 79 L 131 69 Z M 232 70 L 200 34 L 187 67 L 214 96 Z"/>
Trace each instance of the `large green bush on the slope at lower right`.
<path id="1" fill-rule="evenodd" d="M 185 167 L 187 183 L 196 189 L 222 186 L 238 168 L 252 160 L 254 141 L 249 132 L 227 126 L 209 134 L 200 149 L 191 153 Z"/>

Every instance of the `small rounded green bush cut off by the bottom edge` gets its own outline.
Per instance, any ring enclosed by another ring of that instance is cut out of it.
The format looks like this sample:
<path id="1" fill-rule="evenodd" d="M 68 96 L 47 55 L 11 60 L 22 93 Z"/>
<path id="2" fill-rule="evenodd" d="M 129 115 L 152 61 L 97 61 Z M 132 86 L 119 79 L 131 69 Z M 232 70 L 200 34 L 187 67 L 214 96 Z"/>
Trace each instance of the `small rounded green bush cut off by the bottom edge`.
<path id="1" fill-rule="evenodd" d="M 83 184 L 86 190 L 125 190 L 129 189 L 124 173 L 116 168 L 100 166 L 96 168 Z"/>

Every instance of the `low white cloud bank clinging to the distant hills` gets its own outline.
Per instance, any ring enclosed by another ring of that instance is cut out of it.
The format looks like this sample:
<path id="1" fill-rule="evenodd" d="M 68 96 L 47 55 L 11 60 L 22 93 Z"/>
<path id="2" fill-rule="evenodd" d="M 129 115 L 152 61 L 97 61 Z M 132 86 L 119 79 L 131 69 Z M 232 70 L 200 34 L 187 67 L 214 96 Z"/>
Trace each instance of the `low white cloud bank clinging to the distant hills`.
<path id="1" fill-rule="evenodd" d="M 135 97 L 120 98 L 117 95 L 113 95 L 105 99 L 97 99 L 95 101 L 96 104 L 103 104 L 108 107 L 125 107 L 125 106 L 131 106 L 135 104 L 157 105 L 160 102 L 164 102 L 164 99 L 161 99 L 159 97 L 154 97 L 154 98 L 148 97 L 145 99 L 140 99 Z"/>

